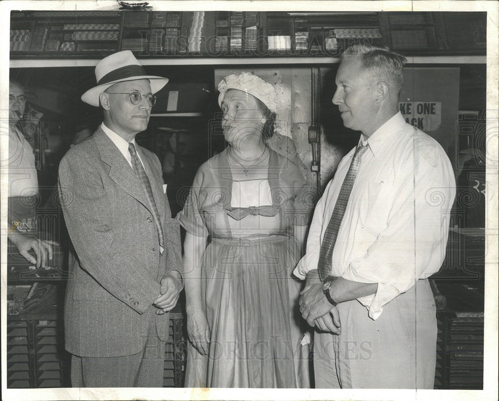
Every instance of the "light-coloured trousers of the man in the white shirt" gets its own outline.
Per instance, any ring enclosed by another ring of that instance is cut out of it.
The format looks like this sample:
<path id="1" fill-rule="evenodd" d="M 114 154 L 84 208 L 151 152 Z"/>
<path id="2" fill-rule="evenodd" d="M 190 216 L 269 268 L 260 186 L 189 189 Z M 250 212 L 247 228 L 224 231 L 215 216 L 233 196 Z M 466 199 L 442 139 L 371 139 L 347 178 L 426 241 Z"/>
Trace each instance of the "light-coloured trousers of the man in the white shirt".
<path id="1" fill-rule="evenodd" d="M 437 319 L 427 279 L 387 303 L 376 320 L 357 300 L 337 308 L 340 335 L 314 335 L 316 388 L 433 389 Z"/>

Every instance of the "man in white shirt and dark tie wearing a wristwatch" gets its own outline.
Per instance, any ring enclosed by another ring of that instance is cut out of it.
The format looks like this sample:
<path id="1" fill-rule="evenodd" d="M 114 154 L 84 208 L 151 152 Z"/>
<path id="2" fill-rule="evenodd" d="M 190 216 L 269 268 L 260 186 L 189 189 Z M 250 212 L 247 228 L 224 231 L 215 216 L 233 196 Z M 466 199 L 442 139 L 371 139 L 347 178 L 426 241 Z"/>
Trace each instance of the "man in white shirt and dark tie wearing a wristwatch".
<path id="1" fill-rule="evenodd" d="M 456 189 L 442 147 L 398 112 L 405 61 L 354 45 L 336 75 L 332 101 L 366 148 L 340 162 L 294 271 L 307 280 L 302 316 L 317 328 L 317 388 L 433 389 L 437 322 L 427 278 L 444 260 Z"/>

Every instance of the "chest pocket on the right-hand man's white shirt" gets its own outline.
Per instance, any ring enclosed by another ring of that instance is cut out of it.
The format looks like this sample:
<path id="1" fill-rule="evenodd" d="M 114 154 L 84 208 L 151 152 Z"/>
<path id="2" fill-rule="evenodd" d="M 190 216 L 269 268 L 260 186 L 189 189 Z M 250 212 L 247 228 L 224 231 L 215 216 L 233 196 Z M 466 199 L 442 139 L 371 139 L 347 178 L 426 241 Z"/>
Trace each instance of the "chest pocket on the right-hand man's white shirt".
<path id="1" fill-rule="evenodd" d="M 387 227 L 388 215 L 392 208 L 395 187 L 384 181 L 367 183 L 367 200 L 360 219 L 365 227 L 381 231 Z"/>

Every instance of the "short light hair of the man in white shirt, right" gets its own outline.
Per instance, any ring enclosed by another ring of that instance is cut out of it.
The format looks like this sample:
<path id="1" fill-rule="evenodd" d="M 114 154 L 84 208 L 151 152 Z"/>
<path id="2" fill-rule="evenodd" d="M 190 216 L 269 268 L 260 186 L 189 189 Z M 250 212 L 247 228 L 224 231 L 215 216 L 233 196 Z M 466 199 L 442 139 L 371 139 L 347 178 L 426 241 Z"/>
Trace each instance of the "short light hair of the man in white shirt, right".
<path id="1" fill-rule="evenodd" d="M 399 93 L 404 81 L 403 70 L 407 59 L 391 51 L 386 46 L 357 43 L 348 47 L 342 54 L 341 60 L 358 57 L 363 70 L 381 78 Z"/>

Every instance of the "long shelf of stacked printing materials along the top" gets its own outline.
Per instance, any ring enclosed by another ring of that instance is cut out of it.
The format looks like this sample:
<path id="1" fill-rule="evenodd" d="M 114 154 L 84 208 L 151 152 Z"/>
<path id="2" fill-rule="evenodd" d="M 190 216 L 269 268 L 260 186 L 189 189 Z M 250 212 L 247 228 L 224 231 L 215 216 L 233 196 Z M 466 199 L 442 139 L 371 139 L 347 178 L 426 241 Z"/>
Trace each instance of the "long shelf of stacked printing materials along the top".
<path id="1" fill-rule="evenodd" d="M 485 54 L 485 12 L 12 11 L 14 57 L 338 56 L 353 43 L 405 55 Z"/>

